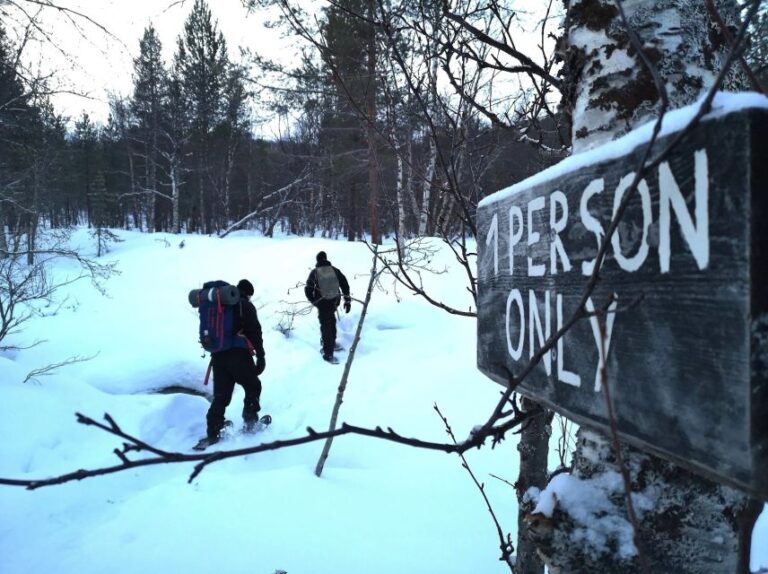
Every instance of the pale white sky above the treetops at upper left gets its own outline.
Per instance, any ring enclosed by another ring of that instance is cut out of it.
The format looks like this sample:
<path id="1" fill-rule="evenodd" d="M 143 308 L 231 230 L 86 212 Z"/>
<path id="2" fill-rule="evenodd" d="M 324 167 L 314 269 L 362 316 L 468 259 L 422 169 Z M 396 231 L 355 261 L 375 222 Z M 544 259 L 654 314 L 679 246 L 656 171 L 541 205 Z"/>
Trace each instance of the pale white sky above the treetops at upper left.
<path id="1" fill-rule="evenodd" d="M 144 28 L 154 24 L 166 63 L 170 63 L 193 4 L 194 0 L 59 0 L 57 5 L 87 15 L 114 37 L 83 18 L 73 16 L 70 20 L 47 9 L 43 26 L 54 42 L 30 45 L 27 61 L 35 70 L 55 72 L 53 86 L 88 94 L 87 98 L 56 94 L 53 102 L 59 113 L 77 118 L 85 110 L 94 120 L 104 122 L 108 94 L 125 96 L 132 92 L 133 58 L 139 52 Z M 30 3 L 30 7 L 34 5 Z M 232 60 L 239 59 L 239 47 L 268 57 L 289 50 L 280 32 L 265 28 L 264 17 L 248 14 L 240 0 L 209 0 L 209 7 L 227 40 Z"/>

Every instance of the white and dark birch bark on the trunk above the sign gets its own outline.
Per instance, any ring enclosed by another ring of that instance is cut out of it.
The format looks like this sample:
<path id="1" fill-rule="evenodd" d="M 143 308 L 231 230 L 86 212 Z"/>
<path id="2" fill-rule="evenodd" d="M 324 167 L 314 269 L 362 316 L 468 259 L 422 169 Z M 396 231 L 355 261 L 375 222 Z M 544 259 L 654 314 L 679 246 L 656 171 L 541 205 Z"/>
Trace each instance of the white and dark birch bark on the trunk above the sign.
<path id="1" fill-rule="evenodd" d="M 737 22 L 733 0 L 716 0 Z M 696 101 L 728 52 L 704 0 L 624 0 L 625 14 L 664 80 L 671 108 Z M 566 19 L 573 153 L 592 149 L 652 120 L 659 94 L 632 46 L 614 0 L 572 0 Z M 724 88 L 741 81 L 734 68 Z M 567 92 L 567 90 L 566 90 Z"/>

